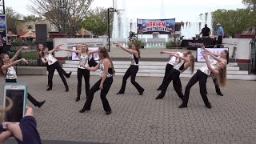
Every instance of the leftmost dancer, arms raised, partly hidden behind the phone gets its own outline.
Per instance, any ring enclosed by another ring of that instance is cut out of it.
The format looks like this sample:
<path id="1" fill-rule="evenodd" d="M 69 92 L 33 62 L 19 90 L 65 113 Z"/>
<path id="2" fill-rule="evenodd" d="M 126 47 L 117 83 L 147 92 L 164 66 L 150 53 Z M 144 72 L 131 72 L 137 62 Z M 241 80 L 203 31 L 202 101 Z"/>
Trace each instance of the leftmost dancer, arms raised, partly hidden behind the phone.
<path id="1" fill-rule="evenodd" d="M 0 54 L 0 76 L 6 77 L 6 82 L 17 82 L 17 74 L 16 70 L 13 66 L 17 65 L 19 62 L 26 62 L 26 59 L 18 59 L 16 61 L 15 58 L 21 53 L 22 50 L 27 50 L 28 47 L 23 46 L 20 50 L 16 52 L 13 58 L 9 58 L 8 54 Z M 38 102 L 36 99 L 34 99 L 29 93 L 27 94 L 27 98 L 30 100 L 30 102 L 33 103 L 34 106 L 38 106 L 39 108 L 46 102 Z"/>

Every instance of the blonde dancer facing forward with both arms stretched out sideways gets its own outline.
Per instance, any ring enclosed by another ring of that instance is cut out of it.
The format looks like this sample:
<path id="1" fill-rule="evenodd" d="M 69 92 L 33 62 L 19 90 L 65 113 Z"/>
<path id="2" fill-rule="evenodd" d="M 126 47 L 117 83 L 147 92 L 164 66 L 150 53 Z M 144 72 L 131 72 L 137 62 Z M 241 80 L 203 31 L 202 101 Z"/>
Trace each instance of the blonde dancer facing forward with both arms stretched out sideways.
<path id="1" fill-rule="evenodd" d="M 82 66 L 90 66 L 90 59 L 92 58 L 92 54 L 97 53 L 96 51 L 89 51 L 88 46 L 86 44 L 78 44 L 78 50 L 70 50 L 70 49 L 62 49 L 59 50 L 65 50 L 74 52 L 78 55 L 79 58 L 79 65 L 78 65 L 78 89 L 77 89 L 77 98 L 75 99 L 76 102 L 80 100 L 81 95 L 81 88 L 82 88 L 82 76 L 85 79 L 85 85 L 86 85 L 86 98 L 88 98 L 89 90 L 90 90 L 90 70 L 86 70 L 86 68 Z M 82 65 L 82 66 L 80 66 Z"/>

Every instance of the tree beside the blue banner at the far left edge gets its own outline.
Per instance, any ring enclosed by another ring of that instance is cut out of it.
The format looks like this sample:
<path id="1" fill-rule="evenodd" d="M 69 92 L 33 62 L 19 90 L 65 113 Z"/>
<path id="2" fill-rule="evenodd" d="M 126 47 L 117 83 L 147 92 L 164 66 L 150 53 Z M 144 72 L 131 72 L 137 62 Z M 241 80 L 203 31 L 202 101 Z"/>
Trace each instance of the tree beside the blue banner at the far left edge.
<path id="1" fill-rule="evenodd" d="M 2 10 L 1 10 L 2 13 Z M 13 8 L 6 7 L 6 24 L 7 31 L 11 31 L 14 34 L 17 34 L 16 30 L 16 21 L 22 18 L 21 14 L 18 14 Z"/>

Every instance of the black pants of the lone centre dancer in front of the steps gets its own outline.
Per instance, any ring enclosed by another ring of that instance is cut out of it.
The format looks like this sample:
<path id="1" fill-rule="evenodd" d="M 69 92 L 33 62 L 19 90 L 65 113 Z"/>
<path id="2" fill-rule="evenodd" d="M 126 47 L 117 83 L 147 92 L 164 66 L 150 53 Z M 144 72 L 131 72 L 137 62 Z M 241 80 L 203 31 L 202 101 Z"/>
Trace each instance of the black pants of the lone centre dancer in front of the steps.
<path id="1" fill-rule="evenodd" d="M 126 90 L 126 81 L 130 77 L 130 82 L 136 87 L 139 93 L 142 93 L 144 89 L 139 86 L 138 82 L 135 82 L 136 74 L 138 73 L 138 66 L 130 65 L 129 69 L 126 70 L 126 74 L 122 78 L 122 87 L 119 90 L 120 93 L 124 93 Z"/>

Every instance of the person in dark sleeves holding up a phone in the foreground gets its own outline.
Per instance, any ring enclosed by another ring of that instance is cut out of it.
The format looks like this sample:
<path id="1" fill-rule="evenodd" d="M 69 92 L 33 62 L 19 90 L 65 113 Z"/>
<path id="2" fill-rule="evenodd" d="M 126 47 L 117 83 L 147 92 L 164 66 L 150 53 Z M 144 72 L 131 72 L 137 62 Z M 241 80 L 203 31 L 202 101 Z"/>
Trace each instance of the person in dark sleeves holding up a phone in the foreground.
<path id="1" fill-rule="evenodd" d="M 8 98 L 7 98 L 8 99 Z M 0 116 L 2 118 L 2 113 L 10 110 L 12 102 L 10 99 L 10 106 L 7 106 L 5 109 L 0 110 Z M 2 124 L 2 119 L 0 120 Z M 19 124 L 7 123 L 6 130 L 0 126 L 0 144 L 14 136 L 18 144 L 42 144 L 40 135 L 37 130 L 37 122 L 33 116 L 33 110 L 31 107 L 26 108 L 25 117 L 22 118 Z"/>

